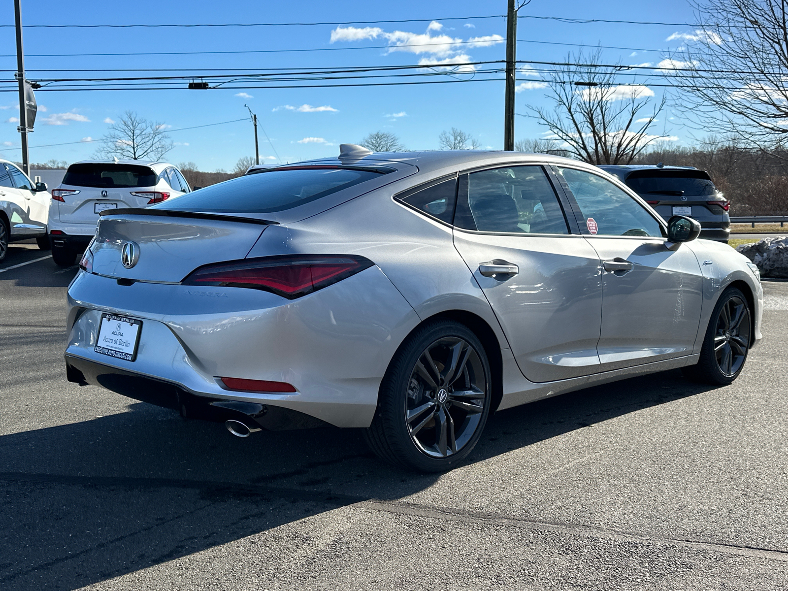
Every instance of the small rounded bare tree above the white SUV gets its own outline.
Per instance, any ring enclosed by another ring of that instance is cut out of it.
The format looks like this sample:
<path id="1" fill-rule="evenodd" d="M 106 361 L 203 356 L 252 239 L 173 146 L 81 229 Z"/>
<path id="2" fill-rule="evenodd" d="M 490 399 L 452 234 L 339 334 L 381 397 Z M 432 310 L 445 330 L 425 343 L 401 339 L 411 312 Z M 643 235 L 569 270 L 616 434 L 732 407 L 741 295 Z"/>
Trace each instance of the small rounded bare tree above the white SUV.
<path id="1" fill-rule="evenodd" d="M 158 160 L 173 149 L 162 123 L 147 121 L 134 111 L 126 111 L 102 138 L 97 155 L 124 160 Z"/>

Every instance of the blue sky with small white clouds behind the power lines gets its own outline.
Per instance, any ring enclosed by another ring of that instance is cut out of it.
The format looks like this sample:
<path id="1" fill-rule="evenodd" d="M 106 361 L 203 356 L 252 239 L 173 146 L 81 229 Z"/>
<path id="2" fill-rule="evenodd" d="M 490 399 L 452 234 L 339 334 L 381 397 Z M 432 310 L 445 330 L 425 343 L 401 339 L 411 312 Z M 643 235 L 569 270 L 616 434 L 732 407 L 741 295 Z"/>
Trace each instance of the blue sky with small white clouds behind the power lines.
<path id="1" fill-rule="evenodd" d="M 23 0 L 24 24 L 195 24 L 291 21 L 351 21 L 383 19 L 434 19 L 429 22 L 400 24 L 354 24 L 355 29 L 333 25 L 259 28 L 121 28 L 121 29 L 45 29 L 24 32 L 28 79 L 54 77 L 36 69 L 209 69 L 296 68 L 368 65 L 437 64 L 467 55 L 472 61 L 504 59 L 504 43 L 493 35 L 506 34 L 505 20 L 444 20 L 449 17 L 504 14 L 505 0 L 467 2 L 96 2 L 80 0 L 79 10 L 71 2 Z M 658 20 L 692 22 L 693 13 L 686 0 L 663 2 L 545 2 L 533 0 L 522 14 L 612 20 Z M 13 2 L 3 2 L 0 24 L 13 24 Z M 365 27 L 372 29 L 363 30 Z M 375 30 L 374 28 L 378 28 Z M 2 29 L 0 54 L 6 80 L 13 80 L 16 69 L 13 28 Z M 678 35 L 677 35 L 678 34 Z M 623 46 L 634 50 L 604 50 L 605 61 L 624 64 L 657 64 L 676 50 L 689 27 L 634 24 L 571 24 L 555 20 L 520 19 L 518 39 L 551 43 L 587 43 Z M 425 36 L 433 38 L 431 49 L 418 46 Z M 440 48 L 434 38 L 461 39 L 458 45 Z M 333 39 L 333 42 L 332 42 Z M 473 41 L 473 39 L 477 39 Z M 396 49 L 397 44 L 413 47 Z M 373 46 L 395 46 L 374 49 Z M 146 55 L 113 57 L 65 57 L 62 54 L 119 52 L 184 51 L 261 51 L 261 50 L 342 50 L 223 54 L 223 55 Z M 344 49 L 353 48 L 353 49 Z M 461 49 L 458 49 L 461 48 Z M 518 43 L 518 58 L 536 61 L 563 61 L 567 51 L 577 47 L 546 43 Z M 415 53 L 417 51 L 419 53 Z M 34 57 L 34 54 L 56 54 Z M 65 72 L 57 76 L 72 76 Z M 106 76 L 96 72 L 91 76 Z M 128 75 L 128 74 L 127 74 Z M 481 77 L 480 75 L 475 75 Z M 463 74 L 461 77 L 470 77 Z M 545 89 L 537 76 L 519 76 L 526 84 L 517 94 L 517 110 L 526 104 L 546 105 Z M 622 80 L 626 80 L 622 78 Z M 626 80 L 628 81 L 628 80 Z M 184 82 L 182 86 L 186 86 Z M 659 99 L 660 88 L 651 89 Z M 248 96 L 236 96 L 239 93 Z M 221 89 L 208 91 L 39 91 L 35 132 L 30 144 L 31 162 L 50 158 L 74 162 L 90 158 L 96 143 L 121 113 L 133 110 L 140 116 L 160 121 L 171 129 L 206 125 L 247 116 L 243 104 L 258 114 L 271 143 L 260 132 L 261 156 L 266 162 L 295 162 L 336 154 L 339 143 L 355 143 L 369 132 L 394 132 L 410 149 L 437 149 L 441 131 L 453 127 L 478 138 L 483 147 L 503 146 L 504 82 L 469 84 L 430 84 L 400 87 L 281 88 L 254 90 Z M 17 123 L 17 95 L 0 93 L 0 155 L 20 159 Z M 44 111 L 46 109 L 46 111 Z M 671 118 L 672 117 L 672 118 Z M 517 139 L 544 135 L 535 121 L 517 117 Z M 660 134 L 675 136 L 672 143 L 692 143 L 689 130 L 671 113 L 663 112 Z M 176 147 L 165 158 L 169 162 L 196 162 L 201 169 L 232 169 L 241 156 L 254 155 L 251 123 L 175 131 Z M 37 147 L 52 143 L 80 142 L 57 147 Z M 272 149 L 272 144 L 273 148 Z M 329 145 L 332 144 L 332 145 Z"/>

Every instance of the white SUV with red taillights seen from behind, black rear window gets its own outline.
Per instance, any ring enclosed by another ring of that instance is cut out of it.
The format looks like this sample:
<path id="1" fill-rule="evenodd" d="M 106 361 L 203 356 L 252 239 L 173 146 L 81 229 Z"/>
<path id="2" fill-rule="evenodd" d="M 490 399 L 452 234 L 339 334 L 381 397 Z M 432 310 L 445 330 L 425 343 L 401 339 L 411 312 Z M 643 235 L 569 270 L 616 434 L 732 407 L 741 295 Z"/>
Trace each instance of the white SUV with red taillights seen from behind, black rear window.
<path id="1" fill-rule="evenodd" d="M 139 160 L 75 162 L 52 189 L 49 240 L 52 258 L 72 266 L 95 235 L 102 211 L 147 207 L 191 192 L 174 165 Z"/>

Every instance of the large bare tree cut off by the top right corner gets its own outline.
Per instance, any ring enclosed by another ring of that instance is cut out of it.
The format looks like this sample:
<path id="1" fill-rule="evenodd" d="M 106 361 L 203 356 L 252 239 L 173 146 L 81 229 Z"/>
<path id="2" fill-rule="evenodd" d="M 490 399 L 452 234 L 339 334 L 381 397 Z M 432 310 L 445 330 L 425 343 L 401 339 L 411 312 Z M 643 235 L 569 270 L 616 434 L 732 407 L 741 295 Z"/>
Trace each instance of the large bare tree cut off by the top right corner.
<path id="1" fill-rule="evenodd" d="M 788 141 L 788 2 L 693 0 L 699 26 L 682 57 L 675 106 L 689 125 L 749 147 Z M 679 61 L 681 60 L 681 61 Z"/>

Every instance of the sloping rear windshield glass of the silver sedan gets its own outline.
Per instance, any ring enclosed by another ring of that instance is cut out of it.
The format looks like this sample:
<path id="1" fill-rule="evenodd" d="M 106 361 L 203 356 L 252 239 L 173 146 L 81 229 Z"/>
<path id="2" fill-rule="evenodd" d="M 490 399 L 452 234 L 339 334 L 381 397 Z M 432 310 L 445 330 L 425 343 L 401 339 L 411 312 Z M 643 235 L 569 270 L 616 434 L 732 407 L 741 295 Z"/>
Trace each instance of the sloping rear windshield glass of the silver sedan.
<path id="1" fill-rule="evenodd" d="M 385 172 L 380 168 L 272 169 L 192 191 L 154 209 L 266 214 L 309 203 Z"/>

